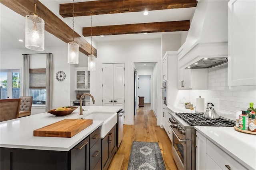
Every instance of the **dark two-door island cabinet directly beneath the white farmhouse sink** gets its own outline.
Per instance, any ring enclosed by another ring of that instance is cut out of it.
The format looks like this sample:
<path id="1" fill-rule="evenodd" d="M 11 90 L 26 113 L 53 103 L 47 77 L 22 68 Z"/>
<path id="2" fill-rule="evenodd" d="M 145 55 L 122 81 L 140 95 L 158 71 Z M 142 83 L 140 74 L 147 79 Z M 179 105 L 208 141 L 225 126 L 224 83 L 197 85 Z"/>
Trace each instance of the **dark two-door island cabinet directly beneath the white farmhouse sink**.
<path id="1" fill-rule="evenodd" d="M 116 125 L 101 140 L 102 170 L 107 170 L 117 150 Z"/>

